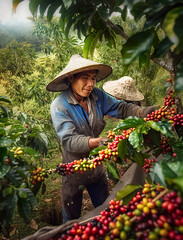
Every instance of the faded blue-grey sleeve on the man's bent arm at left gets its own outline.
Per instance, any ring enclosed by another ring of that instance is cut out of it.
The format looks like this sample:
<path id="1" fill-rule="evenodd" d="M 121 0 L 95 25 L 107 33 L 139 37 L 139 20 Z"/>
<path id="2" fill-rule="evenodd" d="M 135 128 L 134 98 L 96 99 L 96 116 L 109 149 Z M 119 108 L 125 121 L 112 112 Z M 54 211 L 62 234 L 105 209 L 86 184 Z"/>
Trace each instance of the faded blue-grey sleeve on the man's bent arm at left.
<path id="1" fill-rule="evenodd" d="M 85 153 L 91 150 L 88 144 L 90 136 L 78 134 L 76 126 L 66 110 L 52 104 L 51 117 L 62 146 L 67 151 Z"/>

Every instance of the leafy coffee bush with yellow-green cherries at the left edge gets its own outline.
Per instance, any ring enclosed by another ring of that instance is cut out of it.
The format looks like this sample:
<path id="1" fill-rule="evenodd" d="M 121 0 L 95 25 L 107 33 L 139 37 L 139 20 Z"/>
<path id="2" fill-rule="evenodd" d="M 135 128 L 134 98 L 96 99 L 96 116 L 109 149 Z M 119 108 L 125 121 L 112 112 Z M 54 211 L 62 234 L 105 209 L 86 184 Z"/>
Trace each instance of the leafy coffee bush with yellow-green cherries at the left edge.
<path id="1" fill-rule="evenodd" d="M 32 116 L 13 113 L 7 97 L 0 97 L 0 133 L 0 231 L 7 233 L 15 211 L 28 222 L 36 207 L 30 174 L 47 154 L 48 138 Z"/>

